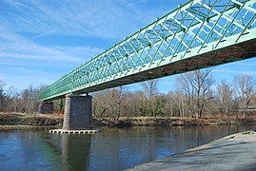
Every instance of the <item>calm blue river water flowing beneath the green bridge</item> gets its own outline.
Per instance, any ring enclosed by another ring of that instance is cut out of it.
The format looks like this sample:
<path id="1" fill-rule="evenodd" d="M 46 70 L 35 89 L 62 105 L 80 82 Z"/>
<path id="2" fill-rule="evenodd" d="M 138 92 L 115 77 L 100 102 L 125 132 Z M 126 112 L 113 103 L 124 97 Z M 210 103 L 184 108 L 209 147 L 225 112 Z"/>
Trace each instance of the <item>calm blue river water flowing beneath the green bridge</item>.
<path id="1" fill-rule="evenodd" d="M 94 135 L 0 131 L 0 170 L 122 170 L 183 152 L 249 126 L 108 128 Z"/>

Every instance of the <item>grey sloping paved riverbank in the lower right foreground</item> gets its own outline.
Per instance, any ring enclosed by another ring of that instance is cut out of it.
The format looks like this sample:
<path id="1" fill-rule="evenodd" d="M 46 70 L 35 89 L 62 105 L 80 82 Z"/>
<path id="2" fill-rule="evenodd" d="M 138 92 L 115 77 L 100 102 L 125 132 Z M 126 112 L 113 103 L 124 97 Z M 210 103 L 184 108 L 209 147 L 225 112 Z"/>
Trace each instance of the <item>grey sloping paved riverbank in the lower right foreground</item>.
<path id="1" fill-rule="evenodd" d="M 246 131 L 128 170 L 256 170 L 255 159 L 256 133 Z"/>

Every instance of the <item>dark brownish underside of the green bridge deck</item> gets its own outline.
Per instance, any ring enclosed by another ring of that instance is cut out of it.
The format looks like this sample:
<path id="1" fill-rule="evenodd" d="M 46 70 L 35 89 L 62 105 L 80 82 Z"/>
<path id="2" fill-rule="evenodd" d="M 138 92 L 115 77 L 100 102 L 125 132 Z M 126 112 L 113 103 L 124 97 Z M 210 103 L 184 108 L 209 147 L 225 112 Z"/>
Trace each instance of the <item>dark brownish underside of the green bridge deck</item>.
<path id="1" fill-rule="evenodd" d="M 88 92 L 107 89 L 109 87 L 139 83 L 150 79 L 180 74 L 209 66 L 219 66 L 252 57 L 256 57 L 256 40 L 247 41 L 232 47 L 225 47 L 210 53 L 193 56 L 192 58 L 178 60 L 177 62 L 170 63 L 165 66 L 159 66 L 140 73 L 129 75 L 124 78 L 106 82 L 104 84 L 94 85 L 81 90 L 73 91 L 72 94 L 80 95 Z M 64 97 L 65 96 L 63 95 L 53 98 L 52 100 Z"/>

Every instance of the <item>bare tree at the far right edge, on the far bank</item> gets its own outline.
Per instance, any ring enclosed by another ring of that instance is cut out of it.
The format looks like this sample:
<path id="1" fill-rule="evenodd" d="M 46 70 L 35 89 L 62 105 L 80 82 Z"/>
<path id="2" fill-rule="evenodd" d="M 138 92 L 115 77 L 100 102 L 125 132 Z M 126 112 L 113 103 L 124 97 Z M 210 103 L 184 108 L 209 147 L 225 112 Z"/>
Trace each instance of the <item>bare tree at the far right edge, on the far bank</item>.
<path id="1" fill-rule="evenodd" d="M 244 118 L 246 118 L 246 111 L 255 93 L 256 80 L 250 75 L 239 75 L 234 77 L 233 85 L 240 107 L 243 110 Z"/>

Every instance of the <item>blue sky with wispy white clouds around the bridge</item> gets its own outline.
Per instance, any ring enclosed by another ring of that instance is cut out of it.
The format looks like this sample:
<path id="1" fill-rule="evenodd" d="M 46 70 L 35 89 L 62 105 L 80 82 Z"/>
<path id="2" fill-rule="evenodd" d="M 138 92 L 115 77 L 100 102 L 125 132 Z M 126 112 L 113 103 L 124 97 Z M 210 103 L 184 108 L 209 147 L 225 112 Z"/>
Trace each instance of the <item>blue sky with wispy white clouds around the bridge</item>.
<path id="1" fill-rule="evenodd" d="M 0 0 L 0 80 L 24 89 L 62 75 L 175 9 L 186 0 Z M 213 69 L 213 76 L 256 75 L 256 59 Z M 160 79 L 159 89 L 175 86 Z M 128 85 L 129 89 L 139 85 Z"/>

